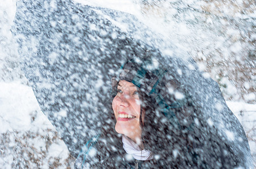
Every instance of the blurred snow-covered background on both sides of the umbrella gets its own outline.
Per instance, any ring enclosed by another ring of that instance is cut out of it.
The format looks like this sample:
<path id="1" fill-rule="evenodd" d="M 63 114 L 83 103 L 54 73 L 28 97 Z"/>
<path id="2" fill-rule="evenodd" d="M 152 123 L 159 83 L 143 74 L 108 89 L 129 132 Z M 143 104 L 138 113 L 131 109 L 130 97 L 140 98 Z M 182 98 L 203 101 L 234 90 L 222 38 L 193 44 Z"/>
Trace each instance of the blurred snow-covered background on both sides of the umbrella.
<path id="1" fill-rule="evenodd" d="M 163 37 L 189 52 L 206 75 L 219 83 L 229 108 L 248 136 L 256 167 L 254 1 L 86 1 L 136 15 Z M 15 1 L 0 5 L 0 166 L 72 167 L 66 145 L 40 111 L 20 70 L 12 38 Z"/>

